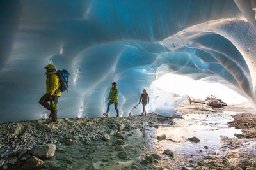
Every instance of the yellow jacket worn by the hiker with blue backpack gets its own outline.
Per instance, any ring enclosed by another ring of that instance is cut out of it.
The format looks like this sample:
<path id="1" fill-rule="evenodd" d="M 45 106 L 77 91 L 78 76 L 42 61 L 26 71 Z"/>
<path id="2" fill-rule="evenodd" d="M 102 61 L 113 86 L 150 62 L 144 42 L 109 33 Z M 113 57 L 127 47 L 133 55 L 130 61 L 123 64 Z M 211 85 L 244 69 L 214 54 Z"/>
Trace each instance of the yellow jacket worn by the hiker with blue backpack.
<path id="1" fill-rule="evenodd" d="M 51 96 L 60 96 L 61 94 L 60 91 L 56 94 L 56 90 L 60 88 L 60 80 L 56 73 L 57 71 L 47 72 L 46 93 Z"/>

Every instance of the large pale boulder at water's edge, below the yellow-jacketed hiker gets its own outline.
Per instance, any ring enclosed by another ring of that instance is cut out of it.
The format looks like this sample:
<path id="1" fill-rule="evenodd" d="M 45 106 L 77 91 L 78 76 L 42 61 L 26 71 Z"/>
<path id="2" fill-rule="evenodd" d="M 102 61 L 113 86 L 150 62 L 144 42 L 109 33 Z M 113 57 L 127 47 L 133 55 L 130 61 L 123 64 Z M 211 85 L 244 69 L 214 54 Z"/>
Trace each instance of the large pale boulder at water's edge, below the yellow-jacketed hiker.
<path id="1" fill-rule="evenodd" d="M 50 158 L 54 156 L 55 144 L 37 145 L 32 148 L 30 153 L 36 157 Z"/>

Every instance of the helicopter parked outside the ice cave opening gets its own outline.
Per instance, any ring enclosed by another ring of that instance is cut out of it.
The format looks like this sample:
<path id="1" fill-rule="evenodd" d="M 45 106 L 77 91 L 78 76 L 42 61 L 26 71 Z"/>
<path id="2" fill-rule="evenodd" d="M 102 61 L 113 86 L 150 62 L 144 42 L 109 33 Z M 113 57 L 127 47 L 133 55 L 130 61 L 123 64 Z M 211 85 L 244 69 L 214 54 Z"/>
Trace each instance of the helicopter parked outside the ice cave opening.
<path id="1" fill-rule="evenodd" d="M 209 97 L 206 97 L 204 101 L 193 101 L 191 98 L 188 96 L 189 103 L 202 103 L 202 104 L 207 104 L 208 106 L 211 106 L 212 109 L 225 109 L 225 106 L 227 106 L 227 103 L 222 101 L 221 99 L 217 99 L 216 96 L 212 95 Z"/>

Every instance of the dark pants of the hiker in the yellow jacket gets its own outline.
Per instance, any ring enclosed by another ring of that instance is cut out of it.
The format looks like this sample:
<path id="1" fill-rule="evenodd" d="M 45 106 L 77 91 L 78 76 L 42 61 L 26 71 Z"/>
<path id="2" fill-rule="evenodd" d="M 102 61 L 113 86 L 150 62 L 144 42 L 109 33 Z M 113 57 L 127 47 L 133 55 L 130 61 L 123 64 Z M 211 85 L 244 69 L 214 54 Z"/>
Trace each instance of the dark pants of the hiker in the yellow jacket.
<path id="1" fill-rule="evenodd" d="M 52 106 L 52 101 L 57 106 L 59 97 L 60 96 L 51 96 L 51 97 L 49 97 L 49 94 L 44 94 L 44 96 L 42 96 L 40 101 L 39 101 L 39 104 L 41 104 L 42 106 L 47 108 L 47 110 L 51 111 L 50 115 L 52 117 L 52 121 L 54 121 L 54 122 L 57 121 L 57 108 L 55 109 Z"/>

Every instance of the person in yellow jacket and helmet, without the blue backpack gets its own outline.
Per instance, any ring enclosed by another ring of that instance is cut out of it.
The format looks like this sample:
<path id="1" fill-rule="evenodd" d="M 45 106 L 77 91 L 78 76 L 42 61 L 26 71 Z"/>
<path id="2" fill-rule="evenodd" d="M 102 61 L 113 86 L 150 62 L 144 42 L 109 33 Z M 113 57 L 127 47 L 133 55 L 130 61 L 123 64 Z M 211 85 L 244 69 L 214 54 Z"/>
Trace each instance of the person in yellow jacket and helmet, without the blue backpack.
<path id="1" fill-rule="evenodd" d="M 57 104 L 60 97 L 60 80 L 56 75 L 57 71 L 53 64 L 48 64 L 46 67 L 46 94 L 41 97 L 39 103 L 50 110 L 49 117 L 52 118 L 49 124 L 54 124 L 57 121 Z"/>

